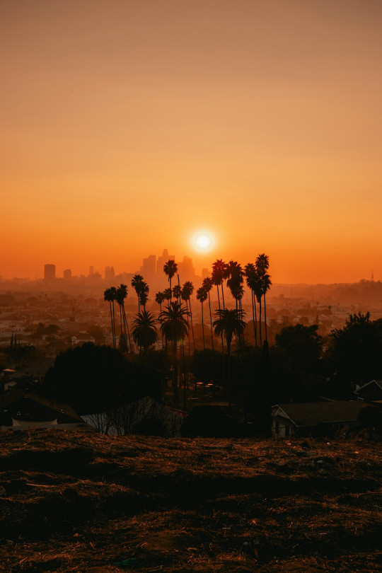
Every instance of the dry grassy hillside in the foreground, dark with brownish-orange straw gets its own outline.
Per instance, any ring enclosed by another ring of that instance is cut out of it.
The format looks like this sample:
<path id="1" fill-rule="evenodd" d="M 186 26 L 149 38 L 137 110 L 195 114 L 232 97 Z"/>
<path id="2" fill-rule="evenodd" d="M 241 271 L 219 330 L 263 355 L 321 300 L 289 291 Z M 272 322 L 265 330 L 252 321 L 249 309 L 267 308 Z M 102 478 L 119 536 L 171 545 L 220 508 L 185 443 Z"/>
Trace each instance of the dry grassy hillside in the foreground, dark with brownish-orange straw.
<path id="1" fill-rule="evenodd" d="M 6 572 L 382 568 L 378 444 L 63 430 L 0 440 Z"/>

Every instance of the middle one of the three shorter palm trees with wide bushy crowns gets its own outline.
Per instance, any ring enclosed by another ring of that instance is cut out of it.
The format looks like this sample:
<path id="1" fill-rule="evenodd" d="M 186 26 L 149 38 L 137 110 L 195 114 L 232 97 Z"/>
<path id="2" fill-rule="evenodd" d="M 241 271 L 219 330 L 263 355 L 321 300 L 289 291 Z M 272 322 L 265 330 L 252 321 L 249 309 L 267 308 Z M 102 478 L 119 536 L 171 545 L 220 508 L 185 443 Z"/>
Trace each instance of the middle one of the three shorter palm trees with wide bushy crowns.
<path id="1" fill-rule="evenodd" d="M 183 340 L 187 336 L 188 325 L 187 309 L 178 302 L 168 303 L 167 308 L 165 308 L 160 316 L 159 320 L 161 322 L 161 332 L 166 338 L 166 341 L 170 341 L 173 345 L 173 392 L 174 400 L 178 399 L 178 373 L 176 371 L 176 351 L 178 340 Z"/>

